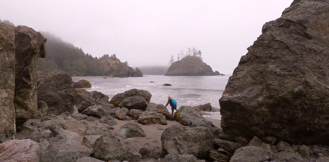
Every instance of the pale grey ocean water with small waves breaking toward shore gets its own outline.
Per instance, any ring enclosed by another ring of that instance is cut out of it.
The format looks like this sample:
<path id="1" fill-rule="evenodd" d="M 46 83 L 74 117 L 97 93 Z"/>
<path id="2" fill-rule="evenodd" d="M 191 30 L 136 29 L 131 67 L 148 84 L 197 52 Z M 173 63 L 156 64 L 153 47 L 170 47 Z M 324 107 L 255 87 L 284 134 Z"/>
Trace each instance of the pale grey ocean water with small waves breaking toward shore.
<path id="1" fill-rule="evenodd" d="M 130 89 L 146 90 L 152 94 L 151 102 L 166 104 L 168 95 L 177 101 L 180 106 L 196 106 L 211 103 L 219 109 L 218 99 L 222 96 L 227 81 L 231 74 L 224 76 L 163 76 L 146 75 L 144 77 L 114 78 L 97 77 L 72 77 L 73 81 L 88 80 L 91 88 L 87 91 L 98 91 L 108 95 L 110 99 Z M 154 83 L 150 83 L 153 81 Z M 172 86 L 163 86 L 168 83 Z M 167 106 L 171 113 L 170 106 Z M 203 116 L 220 120 L 218 112 L 202 112 Z"/>

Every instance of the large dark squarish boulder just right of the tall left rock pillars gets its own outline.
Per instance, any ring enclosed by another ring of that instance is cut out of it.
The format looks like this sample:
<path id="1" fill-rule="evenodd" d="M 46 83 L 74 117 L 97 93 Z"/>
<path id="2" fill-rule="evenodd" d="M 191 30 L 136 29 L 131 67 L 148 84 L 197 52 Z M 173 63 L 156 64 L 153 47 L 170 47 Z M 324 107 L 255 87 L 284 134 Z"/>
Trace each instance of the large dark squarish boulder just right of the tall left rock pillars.
<path id="1" fill-rule="evenodd" d="M 72 86 L 70 74 L 62 70 L 38 71 L 38 101 L 48 105 L 48 114 L 73 113 L 77 92 Z"/>

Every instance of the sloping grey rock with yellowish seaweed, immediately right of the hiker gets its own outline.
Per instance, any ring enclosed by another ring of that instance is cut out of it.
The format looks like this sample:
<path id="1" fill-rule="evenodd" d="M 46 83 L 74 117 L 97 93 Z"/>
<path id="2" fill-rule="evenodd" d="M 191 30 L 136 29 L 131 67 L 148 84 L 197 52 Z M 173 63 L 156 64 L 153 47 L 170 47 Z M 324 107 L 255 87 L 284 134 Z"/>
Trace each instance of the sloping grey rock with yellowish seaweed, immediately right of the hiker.
<path id="1" fill-rule="evenodd" d="M 213 122 L 207 121 L 199 109 L 192 108 L 190 106 L 181 106 L 174 114 L 174 119 L 185 126 L 203 126 L 203 127 L 215 127 Z"/>

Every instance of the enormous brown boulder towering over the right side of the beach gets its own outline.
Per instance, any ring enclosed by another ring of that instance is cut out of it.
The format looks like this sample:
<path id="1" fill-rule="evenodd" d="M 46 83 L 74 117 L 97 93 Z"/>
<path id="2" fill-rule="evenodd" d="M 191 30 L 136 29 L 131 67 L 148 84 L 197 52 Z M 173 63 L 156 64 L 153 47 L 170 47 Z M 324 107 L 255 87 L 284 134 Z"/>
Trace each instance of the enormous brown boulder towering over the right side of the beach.
<path id="1" fill-rule="evenodd" d="M 225 140 L 273 136 L 329 145 L 328 5 L 294 0 L 265 23 L 219 99 Z"/>

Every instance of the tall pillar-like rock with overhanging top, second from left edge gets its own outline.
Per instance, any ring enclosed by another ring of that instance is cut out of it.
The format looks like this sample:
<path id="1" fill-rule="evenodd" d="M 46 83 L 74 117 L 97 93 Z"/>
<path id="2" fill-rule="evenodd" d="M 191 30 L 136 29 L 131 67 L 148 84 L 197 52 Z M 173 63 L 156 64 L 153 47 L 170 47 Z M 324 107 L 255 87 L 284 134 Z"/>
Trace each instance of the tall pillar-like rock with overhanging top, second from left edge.
<path id="1" fill-rule="evenodd" d="M 16 125 L 37 112 L 37 61 L 46 56 L 45 42 L 40 32 L 19 25 L 15 32 L 15 116 Z"/>

